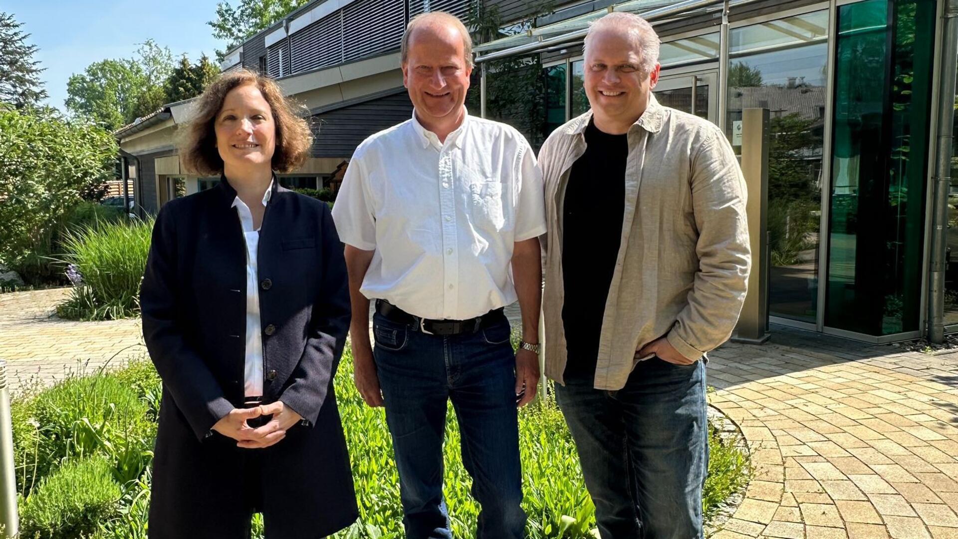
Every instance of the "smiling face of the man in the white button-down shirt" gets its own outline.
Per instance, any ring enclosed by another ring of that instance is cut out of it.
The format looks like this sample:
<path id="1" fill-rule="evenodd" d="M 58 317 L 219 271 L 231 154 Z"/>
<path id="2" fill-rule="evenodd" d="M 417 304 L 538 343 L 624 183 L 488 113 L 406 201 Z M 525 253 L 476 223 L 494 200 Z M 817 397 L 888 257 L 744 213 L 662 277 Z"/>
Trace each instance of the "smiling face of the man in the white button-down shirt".
<path id="1" fill-rule="evenodd" d="M 458 121 L 471 73 L 459 30 L 436 21 L 413 31 L 402 64 L 402 83 L 423 127 L 442 129 Z"/>

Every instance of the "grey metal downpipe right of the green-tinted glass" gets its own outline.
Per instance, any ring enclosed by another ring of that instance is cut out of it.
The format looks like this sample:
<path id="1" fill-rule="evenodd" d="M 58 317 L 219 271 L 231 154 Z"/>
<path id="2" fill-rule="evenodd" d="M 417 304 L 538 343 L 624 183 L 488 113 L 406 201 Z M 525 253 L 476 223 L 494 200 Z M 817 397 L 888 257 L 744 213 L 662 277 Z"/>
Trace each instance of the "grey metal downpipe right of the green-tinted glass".
<path id="1" fill-rule="evenodd" d="M 951 186 L 951 142 L 954 129 L 956 61 L 958 61 L 958 0 L 945 5 L 941 81 L 938 91 L 938 153 L 932 202 L 931 261 L 928 286 L 928 340 L 945 341 L 945 253 L 947 251 L 948 190 Z"/>

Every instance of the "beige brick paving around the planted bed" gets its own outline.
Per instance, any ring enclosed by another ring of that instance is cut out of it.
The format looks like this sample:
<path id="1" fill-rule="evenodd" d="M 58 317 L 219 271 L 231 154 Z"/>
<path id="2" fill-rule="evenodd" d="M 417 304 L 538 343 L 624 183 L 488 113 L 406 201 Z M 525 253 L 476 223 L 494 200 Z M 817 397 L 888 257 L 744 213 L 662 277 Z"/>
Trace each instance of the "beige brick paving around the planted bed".
<path id="1" fill-rule="evenodd" d="M 139 320 L 52 316 L 66 293 L 0 294 L 14 388 L 145 353 Z M 741 427 L 755 468 L 713 537 L 958 538 L 958 353 L 775 327 L 764 346 L 710 356 L 711 401 Z"/>

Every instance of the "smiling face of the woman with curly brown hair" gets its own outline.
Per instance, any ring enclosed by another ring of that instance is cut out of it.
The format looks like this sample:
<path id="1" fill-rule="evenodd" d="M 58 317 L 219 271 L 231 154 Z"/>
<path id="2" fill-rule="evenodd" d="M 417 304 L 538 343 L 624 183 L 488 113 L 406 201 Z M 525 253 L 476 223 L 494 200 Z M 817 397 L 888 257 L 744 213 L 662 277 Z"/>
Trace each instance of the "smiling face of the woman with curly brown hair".
<path id="1" fill-rule="evenodd" d="M 276 122 L 272 108 L 255 84 L 237 86 L 226 94 L 215 127 L 224 172 L 271 166 L 276 151 Z"/>

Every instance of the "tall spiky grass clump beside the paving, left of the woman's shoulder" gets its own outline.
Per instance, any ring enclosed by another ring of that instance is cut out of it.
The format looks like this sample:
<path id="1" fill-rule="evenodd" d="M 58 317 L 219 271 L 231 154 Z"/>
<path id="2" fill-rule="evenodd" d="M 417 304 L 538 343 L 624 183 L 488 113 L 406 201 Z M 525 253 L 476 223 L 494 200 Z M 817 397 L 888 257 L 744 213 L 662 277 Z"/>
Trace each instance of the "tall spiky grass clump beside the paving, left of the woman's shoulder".
<path id="1" fill-rule="evenodd" d="M 62 261 L 80 275 L 59 307 L 64 318 L 110 320 L 139 314 L 140 281 L 147 267 L 153 222 L 102 223 L 67 231 Z"/>

